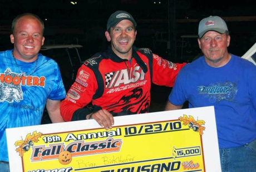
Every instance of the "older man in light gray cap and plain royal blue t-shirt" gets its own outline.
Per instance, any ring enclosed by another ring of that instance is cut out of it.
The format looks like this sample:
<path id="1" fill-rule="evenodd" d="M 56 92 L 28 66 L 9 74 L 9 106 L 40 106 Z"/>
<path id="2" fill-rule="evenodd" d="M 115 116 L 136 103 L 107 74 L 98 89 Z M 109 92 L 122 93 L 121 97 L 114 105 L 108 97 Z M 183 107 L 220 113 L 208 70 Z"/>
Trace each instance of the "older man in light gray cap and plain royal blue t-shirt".
<path id="1" fill-rule="evenodd" d="M 198 36 L 204 55 L 180 70 L 165 110 L 214 106 L 222 171 L 256 171 L 256 66 L 228 53 L 222 18 L 202 19 Z"/>

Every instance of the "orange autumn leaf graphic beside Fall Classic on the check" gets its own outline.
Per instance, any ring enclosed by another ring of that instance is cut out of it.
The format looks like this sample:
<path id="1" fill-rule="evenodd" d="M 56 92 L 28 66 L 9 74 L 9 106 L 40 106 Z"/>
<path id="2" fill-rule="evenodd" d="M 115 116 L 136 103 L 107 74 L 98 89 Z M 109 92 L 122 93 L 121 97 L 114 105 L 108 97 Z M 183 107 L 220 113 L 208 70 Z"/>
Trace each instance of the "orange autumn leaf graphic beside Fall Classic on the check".
<path id="1" fill-rule="evenodd" d="M 42 133 L 37 133 L 34 131 L 31 134 L 27 134 L 25 140 L 19 140 L 15 142 L 16 146 L 19 146 L 16 151 L 19 153 L 19 156 L 23 156 L 23 153 L 29 150 L 30 146 L 33 146 L 34 142 L 37 143 L 38 138 L 41 138 Z"/>

